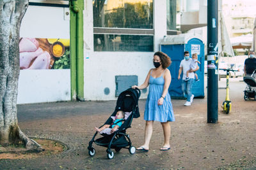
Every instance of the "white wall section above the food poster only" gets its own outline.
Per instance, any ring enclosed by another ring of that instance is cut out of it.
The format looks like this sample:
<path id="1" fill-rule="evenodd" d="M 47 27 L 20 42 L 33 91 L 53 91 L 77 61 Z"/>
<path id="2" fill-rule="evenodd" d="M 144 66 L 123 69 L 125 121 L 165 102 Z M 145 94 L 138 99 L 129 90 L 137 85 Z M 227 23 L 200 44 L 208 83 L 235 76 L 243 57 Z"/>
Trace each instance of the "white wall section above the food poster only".
<path id="1" fill-rule="evenodd" d="M 64 9 L 29 6 L 22 19 L 20 37 L 69 39 L 69 20 L 64 20 Z"/>

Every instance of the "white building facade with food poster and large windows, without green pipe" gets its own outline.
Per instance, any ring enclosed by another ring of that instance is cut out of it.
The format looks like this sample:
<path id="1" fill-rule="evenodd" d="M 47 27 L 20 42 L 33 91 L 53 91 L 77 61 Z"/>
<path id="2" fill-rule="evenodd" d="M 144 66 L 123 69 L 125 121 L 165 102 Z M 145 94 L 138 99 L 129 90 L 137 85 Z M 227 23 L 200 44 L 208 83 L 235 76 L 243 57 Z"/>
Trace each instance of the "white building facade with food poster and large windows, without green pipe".
<path id="1" fill-rule="evenodd" d="M 152 58 L 159 50 L 159 42 L 167 34 L 180 33 L 177 31 L 180 4 L 177 0 L 84 0 L 83 3 L 83 98 L 113 100 L 118 90 L 116 78 L 134 76 L 134 83 L 143 83 L 149 69 L 154 67 Z M 69 15 L 68 1 L 29 1 L 20 28 L 20 46 L 27 42 L 32 46 L 34 43 L 36 48 L 20 52 L 20 57 L 27 53 L 32 56 L 42 48 L 49 65 L 46 69 L 35 66 L 42 57 L 40 53 L 29 60 L 28 67 L 20 66 L 18 104 L 72 99 L 72 67 L 68 67 L 72 43 L 67 43 L 72 32 Z M 60 57 L 56 53 L 61 49 Z M 146 96 L 147 90 L 143 90 L 141 97 Z"/>

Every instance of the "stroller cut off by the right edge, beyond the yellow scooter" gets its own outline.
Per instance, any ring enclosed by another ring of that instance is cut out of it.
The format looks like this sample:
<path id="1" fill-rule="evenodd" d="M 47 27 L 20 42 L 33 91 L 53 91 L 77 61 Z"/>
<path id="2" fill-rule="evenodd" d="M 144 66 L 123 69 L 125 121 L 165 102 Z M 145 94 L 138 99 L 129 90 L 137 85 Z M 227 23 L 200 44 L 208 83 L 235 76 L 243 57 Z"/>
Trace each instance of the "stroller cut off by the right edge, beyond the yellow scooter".
<path id="1" fill-rule="evenodd" d="M 256 69 L 253 71 L 251 76 L 244 76 L 244 82 L 247 84 L 244 89 L 244 100 L 248 101 L 251 98 L 256 100 Z"/>

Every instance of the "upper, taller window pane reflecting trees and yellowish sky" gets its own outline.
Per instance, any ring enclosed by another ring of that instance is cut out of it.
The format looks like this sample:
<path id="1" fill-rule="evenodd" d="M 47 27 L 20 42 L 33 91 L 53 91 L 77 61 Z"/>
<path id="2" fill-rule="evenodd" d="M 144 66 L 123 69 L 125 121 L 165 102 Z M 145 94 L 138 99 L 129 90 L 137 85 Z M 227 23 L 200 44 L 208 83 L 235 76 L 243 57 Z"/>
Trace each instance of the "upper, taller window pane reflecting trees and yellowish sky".
<path id="1" fill-rule="evenodd" d="M 93 27 L 153 29 L 153 0 L 93 0 Z"/>

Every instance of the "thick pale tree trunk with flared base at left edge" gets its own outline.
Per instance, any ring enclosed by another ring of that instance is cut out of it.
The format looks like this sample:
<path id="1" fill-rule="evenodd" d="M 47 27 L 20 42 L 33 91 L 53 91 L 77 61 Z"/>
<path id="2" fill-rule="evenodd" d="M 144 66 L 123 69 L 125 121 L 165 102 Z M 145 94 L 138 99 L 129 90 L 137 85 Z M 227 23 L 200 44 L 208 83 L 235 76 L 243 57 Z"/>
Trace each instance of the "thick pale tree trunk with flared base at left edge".
<path id="1" fill-rule="evenodd" d="M 17 120 L 19 32 L 27 8 L 28 0 L 0 1 L 0 145 L 22 142 L 29 150 L 42 150 L 20 131 Z"/>

